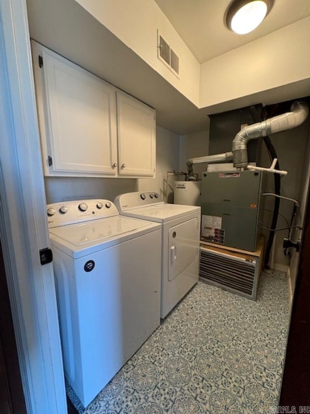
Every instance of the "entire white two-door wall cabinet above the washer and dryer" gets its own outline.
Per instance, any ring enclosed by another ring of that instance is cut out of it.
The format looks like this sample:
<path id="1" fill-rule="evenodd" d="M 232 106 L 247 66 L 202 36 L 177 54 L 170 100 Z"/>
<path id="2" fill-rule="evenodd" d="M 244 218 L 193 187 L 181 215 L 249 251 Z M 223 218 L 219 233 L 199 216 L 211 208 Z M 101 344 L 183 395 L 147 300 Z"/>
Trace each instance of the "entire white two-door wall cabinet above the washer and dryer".
<path id="1" fill-rule="evenodd" d="M 32 42 L 46 176 L 154 177 L 155 111 Z M 117 121 L 119 124 L 117 124 Z"/>

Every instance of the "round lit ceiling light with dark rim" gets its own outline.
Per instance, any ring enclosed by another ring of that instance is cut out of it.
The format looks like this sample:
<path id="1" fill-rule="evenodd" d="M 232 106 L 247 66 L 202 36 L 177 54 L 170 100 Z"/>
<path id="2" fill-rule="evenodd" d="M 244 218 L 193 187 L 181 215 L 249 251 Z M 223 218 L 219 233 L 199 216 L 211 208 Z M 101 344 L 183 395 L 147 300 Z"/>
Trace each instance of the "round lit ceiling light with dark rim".
<path id="1" fill-rule="evenodd" d="M 274 0 L 234 0 L 226 11 L 227 27 L 246 34 L 259 26 L 273 6 Z"/>

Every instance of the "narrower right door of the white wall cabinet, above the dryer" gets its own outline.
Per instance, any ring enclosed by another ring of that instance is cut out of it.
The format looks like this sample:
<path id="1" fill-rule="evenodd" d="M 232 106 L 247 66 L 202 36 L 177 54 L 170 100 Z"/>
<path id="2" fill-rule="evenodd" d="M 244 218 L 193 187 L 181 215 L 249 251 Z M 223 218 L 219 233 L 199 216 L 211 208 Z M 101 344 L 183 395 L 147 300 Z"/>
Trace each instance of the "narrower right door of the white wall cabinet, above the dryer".
<path id="1" fill-rule="evenodd" d="M 119 175 L 155 177 L 155 110 L 117 92 Z"/>

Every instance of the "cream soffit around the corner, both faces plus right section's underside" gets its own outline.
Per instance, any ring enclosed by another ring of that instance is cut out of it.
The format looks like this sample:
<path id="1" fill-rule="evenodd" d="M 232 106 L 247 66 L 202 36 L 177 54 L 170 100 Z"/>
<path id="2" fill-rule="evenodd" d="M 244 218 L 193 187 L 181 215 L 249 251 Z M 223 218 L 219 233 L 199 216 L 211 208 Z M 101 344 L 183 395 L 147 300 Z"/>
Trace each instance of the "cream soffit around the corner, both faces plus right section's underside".
<path id="1" fill-rule="evenodd" d="M 200 65 L 154 0 L 75 1 L 209 114 L 294 99 L 301 87 L 310 90 L 310 17 Z M 180 79 L 157 58 L 157 29 L 180 56 Z"/>

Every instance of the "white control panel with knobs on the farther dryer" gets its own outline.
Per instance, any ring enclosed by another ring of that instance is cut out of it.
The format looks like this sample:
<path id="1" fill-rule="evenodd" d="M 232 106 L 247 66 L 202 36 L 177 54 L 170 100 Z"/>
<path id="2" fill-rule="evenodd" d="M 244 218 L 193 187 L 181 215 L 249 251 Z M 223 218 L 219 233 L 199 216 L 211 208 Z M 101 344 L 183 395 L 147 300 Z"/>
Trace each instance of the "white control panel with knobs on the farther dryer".
<path id="1" fill-rule="evenodd" d="M 163 204 L 164 201 L 160 194 L 154 191 L 137 191 L 117 196 L 114 203 L 119 211 L 125 211 L 131 208 Z"/>

